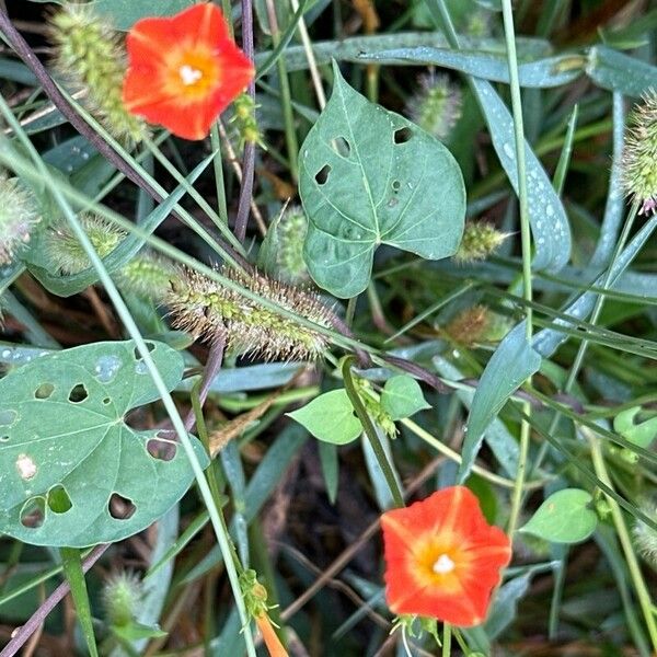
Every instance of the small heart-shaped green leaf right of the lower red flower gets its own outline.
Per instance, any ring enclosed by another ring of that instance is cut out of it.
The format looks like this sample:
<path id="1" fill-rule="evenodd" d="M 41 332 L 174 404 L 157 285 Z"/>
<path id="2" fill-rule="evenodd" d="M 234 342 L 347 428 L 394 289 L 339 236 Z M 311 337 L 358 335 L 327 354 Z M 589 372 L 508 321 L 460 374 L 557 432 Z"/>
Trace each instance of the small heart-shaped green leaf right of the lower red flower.
<path id="1" fill-rule="evenodd" d="M 579 543 L 588 539 L 598 525 L 589 508 L 592 496 L 580 488 L 564 488 L 552 494 L 518 531 L 554 543 Z"/>

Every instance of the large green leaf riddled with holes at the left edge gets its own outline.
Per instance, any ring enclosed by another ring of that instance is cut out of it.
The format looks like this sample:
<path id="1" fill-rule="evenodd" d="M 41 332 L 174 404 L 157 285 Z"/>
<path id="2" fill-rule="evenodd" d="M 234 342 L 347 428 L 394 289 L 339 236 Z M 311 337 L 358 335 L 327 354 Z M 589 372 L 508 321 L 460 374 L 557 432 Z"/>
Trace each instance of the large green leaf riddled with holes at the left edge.
<path id="1" fill-rule="evenodd" d="M 182 356 L 148 344 L 172 390 Z M 172 436 L 126 420 L 159 397 L 132 342 L 57 351 L 0 380 L 0 533 L 84 548 L 137 533 L 165 514 L 193 481 L 189 461 Z"/>

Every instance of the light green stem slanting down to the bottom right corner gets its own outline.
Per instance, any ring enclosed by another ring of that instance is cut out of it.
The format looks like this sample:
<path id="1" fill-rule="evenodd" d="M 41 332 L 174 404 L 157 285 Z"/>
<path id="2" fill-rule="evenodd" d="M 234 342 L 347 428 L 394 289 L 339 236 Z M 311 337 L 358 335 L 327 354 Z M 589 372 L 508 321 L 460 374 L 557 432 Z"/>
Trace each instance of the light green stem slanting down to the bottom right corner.
<path id="1" fill-rule="evenodd" d="M 581 429 L 581 433 L 587 437 L 588 442 L 590 445 L 591 459 L 593 461 L 593 469 L 596 471 L 596 475 L 602 483 L 607 484 L 609 488 L 613 489 L 613 484 L 611 477 L 609 476 L 607 464 L 604 463 L 604 457 L 602 454 L 600 441 L 592 431 Z M 650 599 L 650 593 L 641 572 L 641 566 L 638 565 L 636 554 L 634 553 L 634 549 L 632 546 L 632 539 L 630 538 L 630 532 L 627 531 L 627 526 L 625 525 L 625 519 L 623 518 L 623 511 L 621 510 L 621 507 L 618 505 L 616 500 L 613 497 L 611 497 L 607 493 L 606 495 L 607 500 L 609 503 L 609 508 L 611 509 L 613 525 L 615 527 L 616 533 L 619 534 L 619 540 L 621 541 L 621 545 L 625 554 L 625 561 L 627 562 L 630 577 L 632 578 L 634 590 L 636 591 L 636 597 L 638 598 L 638 603 L 641 606 L 641 610 L 643 612 L 644 620 L 648 629 L 648 634 L 650 635 L 653 649 L 657 654 L 657 621 L 655 621 L 655 613 L 653 608 L 653 601 Z"/>

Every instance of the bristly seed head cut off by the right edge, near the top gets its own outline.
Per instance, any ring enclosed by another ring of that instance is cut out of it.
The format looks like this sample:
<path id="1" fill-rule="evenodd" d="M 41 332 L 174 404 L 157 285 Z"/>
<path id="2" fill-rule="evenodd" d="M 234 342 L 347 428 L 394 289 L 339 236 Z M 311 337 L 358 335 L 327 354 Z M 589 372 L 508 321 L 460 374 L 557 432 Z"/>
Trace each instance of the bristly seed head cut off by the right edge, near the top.
<path id="1" fill-rule="evenodd" d="M 657 91 L 649 91 L 630 118 L 623 152 L 623 185 L 642 215 L 657 210 Z"/>

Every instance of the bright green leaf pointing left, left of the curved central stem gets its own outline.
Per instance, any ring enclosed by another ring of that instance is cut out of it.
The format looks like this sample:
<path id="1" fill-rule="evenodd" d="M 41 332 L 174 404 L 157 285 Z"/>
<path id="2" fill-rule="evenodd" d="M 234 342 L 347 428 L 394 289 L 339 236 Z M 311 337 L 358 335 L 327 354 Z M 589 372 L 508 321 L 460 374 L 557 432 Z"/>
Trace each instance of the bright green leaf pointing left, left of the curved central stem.
<path id="1" fill-rule="evenodd" d="M 351 442 L 362 431 L 344 389 L 325 392 L 303 408 L 292 411 L 288 415 L 304 426 L 318 440 L 333 445 Z"/>

